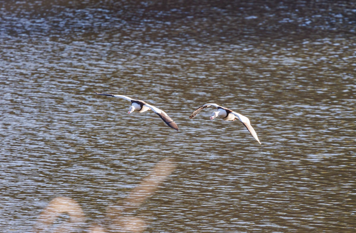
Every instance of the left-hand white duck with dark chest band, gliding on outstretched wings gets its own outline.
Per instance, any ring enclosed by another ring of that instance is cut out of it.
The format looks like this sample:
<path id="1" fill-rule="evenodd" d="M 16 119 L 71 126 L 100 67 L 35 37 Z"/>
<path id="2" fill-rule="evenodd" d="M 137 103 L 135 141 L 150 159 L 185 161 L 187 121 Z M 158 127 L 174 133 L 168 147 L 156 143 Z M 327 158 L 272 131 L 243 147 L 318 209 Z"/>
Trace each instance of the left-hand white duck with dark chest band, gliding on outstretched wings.
<path id="1" fill-rule="evenodd" d="M 155 106 L 149 105 L 148 103 L 146 103 L 145 101 L 142 100 L 134 100 L 130 97 L 127 96 L 122 96 L 122 95 L 111 95 L 111 94 L 103 94 L 103 93 L 98 93 L 96 91 L 94 91 L 95 94 L 100 95 L 100 96 L 112 96 L 112 97 L 119 97 L 119 98 L 123 98 L 125 100 L 128 100 L 131 102 L 131 106 L 129 108 L 129 111 L 127 112 L 128 114 L 130 114 L 133 111 L 136 112 L 146 112 L 148 110 L 152 110 L 153 112 L 155 112 L 159 117 L 161 117 L 161 119 L 166 122 L 166 124 L 171 127 L 174 128 L 175 130 L 178 130 L 178 126 L 176 124 L 176 122 L 174 122 L 171 117 L 169 117 L 167 115 L 167 113 L 163 112 L 162 110 L 160 110 L 159 108 L 156 108 Z"/>

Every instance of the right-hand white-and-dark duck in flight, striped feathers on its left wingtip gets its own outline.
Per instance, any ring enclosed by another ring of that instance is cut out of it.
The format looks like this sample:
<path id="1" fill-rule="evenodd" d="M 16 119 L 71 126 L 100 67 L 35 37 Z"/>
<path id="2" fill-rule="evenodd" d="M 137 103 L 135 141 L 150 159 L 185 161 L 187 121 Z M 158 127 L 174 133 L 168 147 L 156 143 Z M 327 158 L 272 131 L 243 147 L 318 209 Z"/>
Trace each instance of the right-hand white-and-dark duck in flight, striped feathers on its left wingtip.
<path id="1" fill-rule="evenodd" d="M 189 116 L 189 118 L 192 119 L 201 110 L 203 110 L 204 108 L 210 107 L 210 106 L 214 106 L 214 107 L 218 108 L 218 111 L 215 111 L 211 114 L 210 120 L 213 120 L 215 117 L 218 117 L 218 116 L 221 119 L 223 119 L 224 121 L 235 121 L 236 118 L 238 118 L 242 122 L 242 124 L 244 124 L 244 126 L 247 128 L 247 130 L 251 133 L 251 135 L 257 140 L 257 142 L 261 144 L 260 140 L 258 140 L 255 130 L 250 125 L 250 120 L 248 120 L 247 117 L 242 116 L 240 113 L 234 112 L 234 111 L 230 110 L 229 108 L 221 107 L 221 106 L 217 105 L 216 103 L 205 103 L 205 105 L 203 105 L 200 108 L 198 108 L 197 110 L 195 110 L 192 113 L 192 115 Z"/>

